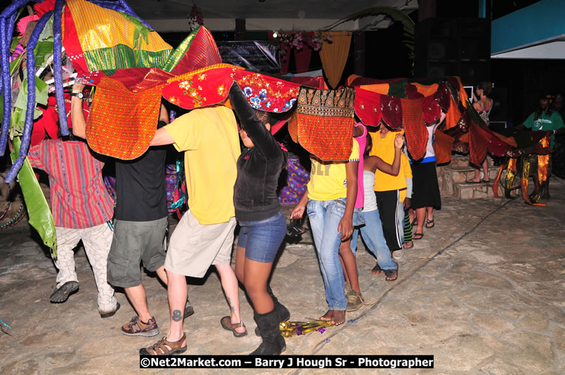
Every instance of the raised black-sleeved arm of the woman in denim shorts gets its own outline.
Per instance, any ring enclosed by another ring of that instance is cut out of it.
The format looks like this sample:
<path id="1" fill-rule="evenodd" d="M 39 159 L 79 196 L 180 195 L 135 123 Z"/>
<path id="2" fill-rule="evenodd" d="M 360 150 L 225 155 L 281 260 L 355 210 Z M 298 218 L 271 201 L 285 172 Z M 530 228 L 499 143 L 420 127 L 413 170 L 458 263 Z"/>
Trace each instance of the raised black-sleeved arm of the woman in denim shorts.
<path id="1" fill-rule="evenodd" d="M 247 132 L 247 136 L 251 138 L 256 149 L 264 157 L 277 156 L 280 153 L 280 146 L 269 131 L 270 128 L 267 129 L 265 124 L 257 118 L 255 110 L 247 103 L 240 85 L 235 82 L 230 87 L 230 102 L 235 113 L 238 114 L 242 129 Z"/>

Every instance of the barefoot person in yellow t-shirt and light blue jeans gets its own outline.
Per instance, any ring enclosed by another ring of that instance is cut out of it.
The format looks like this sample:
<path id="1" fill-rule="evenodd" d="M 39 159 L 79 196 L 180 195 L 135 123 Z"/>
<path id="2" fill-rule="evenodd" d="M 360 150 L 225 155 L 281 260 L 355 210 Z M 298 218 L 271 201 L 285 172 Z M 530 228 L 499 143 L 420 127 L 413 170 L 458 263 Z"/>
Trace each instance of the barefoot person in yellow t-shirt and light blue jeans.
<path id="1" fill-rule="evenodd" d="M 308 210 L 324 280 L 325 298 L 330 307 L 320 320 L 342 324 L 345 321 L 347 299 L 344 272 L 339 261 L 339 244 L 353 233 L 359 145 L 353 142 L 347 162 L 321 162 L 313 157 L 311 162 L 310 182 L 304 196 L 292 210 L 291 217 L 300 218 L 304 210 Z"/>

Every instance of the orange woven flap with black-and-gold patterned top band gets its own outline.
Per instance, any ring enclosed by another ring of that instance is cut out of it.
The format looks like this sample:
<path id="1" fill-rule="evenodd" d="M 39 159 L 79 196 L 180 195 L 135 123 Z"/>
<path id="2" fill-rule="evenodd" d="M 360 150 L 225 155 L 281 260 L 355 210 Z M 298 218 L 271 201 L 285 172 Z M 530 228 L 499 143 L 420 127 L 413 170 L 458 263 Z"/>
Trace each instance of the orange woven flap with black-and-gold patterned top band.
<path id="1" fill-rule="evenodd" d="M 353 148 L 354 100 L 352 87 L 335 91 L 300 88 L 296 111 L 300 145 L 325 161 L 349 159 Z"/>

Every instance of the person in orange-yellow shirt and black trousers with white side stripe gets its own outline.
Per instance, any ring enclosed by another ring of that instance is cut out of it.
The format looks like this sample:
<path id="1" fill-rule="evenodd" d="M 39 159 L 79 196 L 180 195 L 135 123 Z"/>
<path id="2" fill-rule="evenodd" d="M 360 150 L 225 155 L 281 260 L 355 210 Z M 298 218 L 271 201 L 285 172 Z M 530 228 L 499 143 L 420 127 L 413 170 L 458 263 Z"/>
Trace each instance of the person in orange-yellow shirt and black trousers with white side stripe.
<path id="1" fill-rule="evenodd" d="M 370 155 L 380 157 L 385 163 L 392 164 L 394 161 L 394 138 L 396 132 L 381 122 L 379 131 L 370 133 L 372 138 L 372 149 Z M 387 239 L 389 250 L 396 251 L 402 248 L 404 235 L 404 209 L 399 204 L 400 190 L 406 188 L 403 164 L 397 176 L 392 176 L 382 171 L 375 171 L 375 196 L 377 207 L 382 221 L 384 238 Z"/>

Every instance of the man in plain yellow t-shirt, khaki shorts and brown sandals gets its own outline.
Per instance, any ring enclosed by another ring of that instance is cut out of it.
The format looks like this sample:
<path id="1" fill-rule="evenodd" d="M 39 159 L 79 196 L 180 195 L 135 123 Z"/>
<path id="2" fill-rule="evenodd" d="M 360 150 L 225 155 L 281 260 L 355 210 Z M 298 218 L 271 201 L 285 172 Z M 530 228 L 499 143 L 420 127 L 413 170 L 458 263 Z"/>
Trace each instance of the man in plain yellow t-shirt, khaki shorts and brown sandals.
<path id="1" fill-rule="evenodd" d="M 171 326 L 167 336 L 141 355 L 171 355 L 186 351 L 183 301 L 186 276 L 203 277 L 215 265 L 230 305 L 230 320 L 238 336 L 246 334 L 240 317 L 238 279 L 230 265 L 235 229 L 233 185 L 240 155 L 233 111 L 216 105 L 197 108 L 158 129 L 151 145 L 172 144 L 184 151 L 188 207 L 171 236 L 164 268 L 169 279 Z"/>

